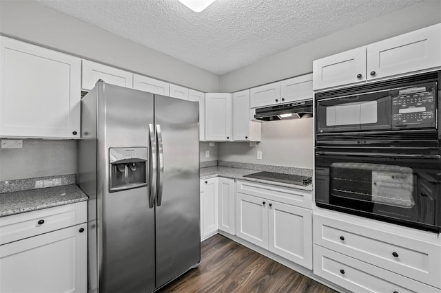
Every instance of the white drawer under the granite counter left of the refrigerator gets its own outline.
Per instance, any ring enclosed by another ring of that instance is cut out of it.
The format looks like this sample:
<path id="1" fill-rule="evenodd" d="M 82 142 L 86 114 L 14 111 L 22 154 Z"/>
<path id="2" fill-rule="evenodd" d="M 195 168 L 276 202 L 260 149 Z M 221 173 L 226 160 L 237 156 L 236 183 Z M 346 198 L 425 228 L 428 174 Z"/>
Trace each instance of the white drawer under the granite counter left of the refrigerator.
<path id="1" fill-rule="evenodd" d="M 74 226 L 85 221 L 87 221 L 87 202 L 1 217 L 0 244 Z"/>

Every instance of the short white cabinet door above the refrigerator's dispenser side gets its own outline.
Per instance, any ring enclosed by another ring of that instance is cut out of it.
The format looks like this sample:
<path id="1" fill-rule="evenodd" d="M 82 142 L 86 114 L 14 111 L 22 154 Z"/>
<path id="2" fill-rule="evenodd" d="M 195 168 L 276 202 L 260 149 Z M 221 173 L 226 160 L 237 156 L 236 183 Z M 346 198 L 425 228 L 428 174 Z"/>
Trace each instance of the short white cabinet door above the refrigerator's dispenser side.
<path id="1" fill-rule="evenodd" d="M 115 67 L 110 67 L 100 63 L 83 60 L 83 78 L 82 88 L 90 91 L 95 87 L 95 83 L 99 80 L 105 83 L 119 85 L 121 87 L 133 87 L 133 74 Z"/>

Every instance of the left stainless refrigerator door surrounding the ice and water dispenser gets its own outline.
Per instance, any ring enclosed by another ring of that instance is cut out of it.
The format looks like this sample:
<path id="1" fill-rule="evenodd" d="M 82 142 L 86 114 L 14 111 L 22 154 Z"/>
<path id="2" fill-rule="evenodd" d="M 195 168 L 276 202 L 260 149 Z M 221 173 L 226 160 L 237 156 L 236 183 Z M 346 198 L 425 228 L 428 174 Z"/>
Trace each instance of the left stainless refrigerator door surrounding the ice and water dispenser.
<path id="1" fill-rule="evenodd" d="M 150 146 L 153 94 L 104 83 L 97 87 L 99 292 L 152 292 L 154 208 L 149 208 L 150 186 L 110 193 L 109 150 Z"/>

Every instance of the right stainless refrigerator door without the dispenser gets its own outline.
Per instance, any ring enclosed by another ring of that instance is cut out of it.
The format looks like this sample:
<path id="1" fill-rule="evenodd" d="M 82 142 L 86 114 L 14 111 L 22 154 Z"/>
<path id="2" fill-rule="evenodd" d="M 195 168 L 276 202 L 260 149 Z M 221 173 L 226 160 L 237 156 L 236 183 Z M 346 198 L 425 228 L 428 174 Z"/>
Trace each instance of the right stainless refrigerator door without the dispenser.
<path id="1" fill-rule="evenodd" d="M 161 287 L 201 261 L 198 104 L 155 95 L 155 124 L 163 154 L 161 206 L 156 206 L 156 286 Z"/>

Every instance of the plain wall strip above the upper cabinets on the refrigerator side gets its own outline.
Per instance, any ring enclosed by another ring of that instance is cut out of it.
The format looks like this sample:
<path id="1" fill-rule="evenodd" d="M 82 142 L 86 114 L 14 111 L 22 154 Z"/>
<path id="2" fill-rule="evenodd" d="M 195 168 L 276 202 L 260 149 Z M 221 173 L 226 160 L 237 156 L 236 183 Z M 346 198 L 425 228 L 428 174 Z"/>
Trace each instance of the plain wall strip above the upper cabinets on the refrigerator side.
<path id="1" fill-rule="evenodd" d="M 218 76 L 30 0 L 0 1 L 0 33 L 199 91 Z"/>

